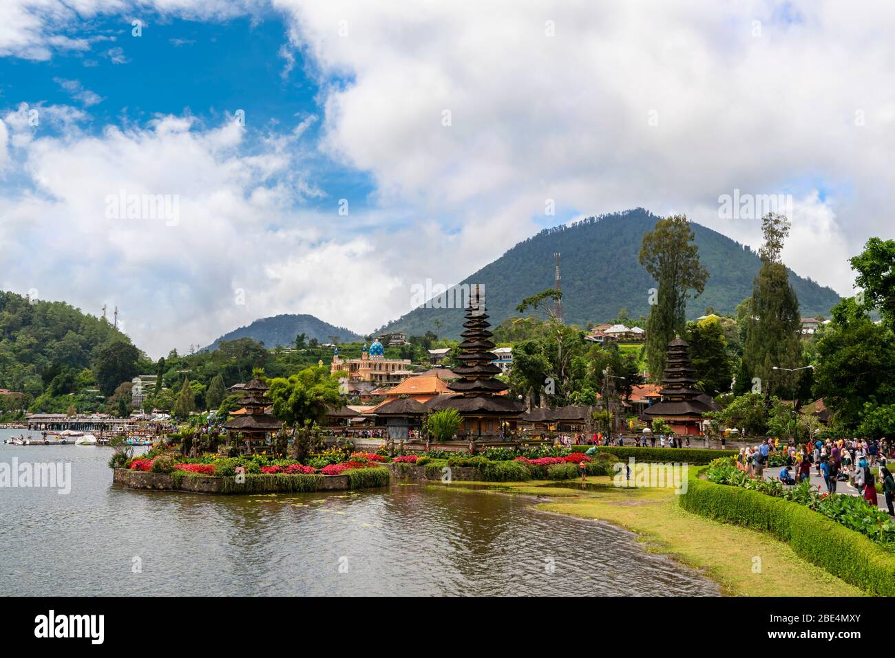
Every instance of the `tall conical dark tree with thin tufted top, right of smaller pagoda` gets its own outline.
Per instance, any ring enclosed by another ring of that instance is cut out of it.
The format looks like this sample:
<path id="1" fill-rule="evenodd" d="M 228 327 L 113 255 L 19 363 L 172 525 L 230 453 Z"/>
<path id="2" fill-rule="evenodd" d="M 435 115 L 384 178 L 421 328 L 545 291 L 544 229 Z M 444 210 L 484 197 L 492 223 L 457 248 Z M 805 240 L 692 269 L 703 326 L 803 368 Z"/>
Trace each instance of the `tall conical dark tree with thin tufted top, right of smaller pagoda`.
<path id="1" fill-rule="evenodd" d="M 792 399 L 797 375 L 773 369 L 802 365 L 798 299 L 780 260 L 789 234 L 789 220 L 784 215 L 769 213 L 763 218 L 762 232 L 764 244 L 758 255 L 763 265 L 753 283 L 743 360 L 752 376 L 762 380 L 763 392 Z"/>

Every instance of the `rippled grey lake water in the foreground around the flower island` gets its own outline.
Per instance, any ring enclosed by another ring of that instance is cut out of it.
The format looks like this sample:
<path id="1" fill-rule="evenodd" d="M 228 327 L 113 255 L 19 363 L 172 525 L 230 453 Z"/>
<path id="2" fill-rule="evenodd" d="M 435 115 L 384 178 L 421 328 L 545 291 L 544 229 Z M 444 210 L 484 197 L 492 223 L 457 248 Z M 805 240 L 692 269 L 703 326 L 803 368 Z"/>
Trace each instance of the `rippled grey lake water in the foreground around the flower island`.
<path id="1" fill-rule="evenodd" d="M 0 441 L 17 434 L 0 429 Z M 137 492 L 112 485 L 110 454 L 0 445 L 0 462 L 72 468 L 68 495 L 0 488 L 0 593 L 718 594 L 625 531 L 533 510 L 518 497 L 422 485 L 251 497 Z"/>

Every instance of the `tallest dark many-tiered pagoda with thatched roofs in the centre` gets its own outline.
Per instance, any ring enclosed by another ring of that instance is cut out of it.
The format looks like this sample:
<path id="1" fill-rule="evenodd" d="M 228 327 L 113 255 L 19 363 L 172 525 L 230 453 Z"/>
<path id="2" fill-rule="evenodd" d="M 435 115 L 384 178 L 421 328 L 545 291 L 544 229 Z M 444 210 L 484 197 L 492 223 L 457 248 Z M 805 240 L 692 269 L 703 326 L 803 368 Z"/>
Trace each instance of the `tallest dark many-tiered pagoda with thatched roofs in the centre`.
<path id="1" fill-rule="evenodd" d="M 497 357 L 491 351 L 494 342 L 488 331 L 490 324 L 485 315 L 485 304 L 479 287 L 476 286 L 469 308 L 466 310 L 465 331 L 460 335 L 461 354 L 457 357 L 460 365 L 452 368 L 458 377 L 447 383 L 453 394 L 439 395 L 425 404 L 427 409 L 456 409 L 463 417 L 458 435 L 462 439 L 494 440 L 499 438 L 507 426 L 516 426 L 518 418 L 525 410 L 521 402 L 505 395 L 509 386 L 496 379 L 501 370 L 492 361 Z"/>

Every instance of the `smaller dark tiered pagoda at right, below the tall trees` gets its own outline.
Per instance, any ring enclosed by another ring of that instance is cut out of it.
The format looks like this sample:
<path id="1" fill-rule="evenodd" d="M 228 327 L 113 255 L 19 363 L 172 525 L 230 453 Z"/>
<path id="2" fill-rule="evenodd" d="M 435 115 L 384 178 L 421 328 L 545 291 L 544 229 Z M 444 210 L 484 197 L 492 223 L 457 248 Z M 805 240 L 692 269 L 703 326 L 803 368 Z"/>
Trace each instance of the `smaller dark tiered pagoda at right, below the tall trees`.
<path id="1" fill-rule="evenodd" d="M 696 371 L 690 363 L 689 345 L 681 338 L 669 342 L 662 374 L 661 401 L 644 409 L 647 423 L 661 418 L 675 434 L 702 434 L 703 414 L 720 409 L 710 395 L 696 388 Z"/>

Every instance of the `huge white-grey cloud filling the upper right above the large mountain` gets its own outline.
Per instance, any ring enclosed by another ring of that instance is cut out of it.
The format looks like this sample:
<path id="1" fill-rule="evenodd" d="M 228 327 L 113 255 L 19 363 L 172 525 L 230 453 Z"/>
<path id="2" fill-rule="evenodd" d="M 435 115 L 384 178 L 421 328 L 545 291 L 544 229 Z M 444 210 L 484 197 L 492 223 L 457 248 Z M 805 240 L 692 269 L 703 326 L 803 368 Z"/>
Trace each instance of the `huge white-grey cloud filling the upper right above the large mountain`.
<path id="1" fill-rule="evenodd" d="M 891 233 L 895 7 L 275 4 L 324 84 L 352 80 L 325 94 L 328 152 L 371 172 L 383 206 L 458 229 L 449 252 L 416 252 L 442 279 L 530 235 L 546 198 L 685 212 L 757 244 L 757 220 L 717 220 L 718 196 L 792 192 L 785 254 L 840 292 L 842 259 Z"/>

